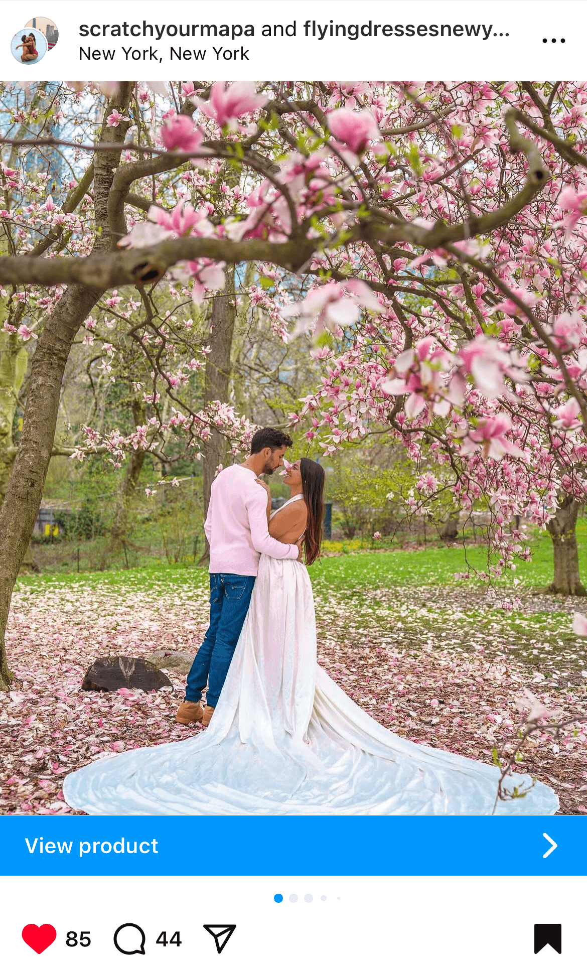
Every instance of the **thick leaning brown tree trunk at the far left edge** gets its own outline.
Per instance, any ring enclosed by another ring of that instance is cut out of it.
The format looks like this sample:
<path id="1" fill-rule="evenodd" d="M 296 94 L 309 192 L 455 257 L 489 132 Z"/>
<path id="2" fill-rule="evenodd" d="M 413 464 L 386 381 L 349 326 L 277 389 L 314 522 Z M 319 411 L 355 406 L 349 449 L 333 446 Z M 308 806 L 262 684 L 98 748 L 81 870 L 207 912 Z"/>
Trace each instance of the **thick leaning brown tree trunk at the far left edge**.
<path id="1" fill-rule="evenodd" d="M 108 107 L 124 112 L 132 90 L 132 82 L 122 82 L 119 93 L 110 99 Z M 105 120 L 99 140 L 124 141 L 129 124 L 125 122 L 118 128 L 108 128 Z M 108 193 L 119 162 L 119 148 L 96 154 L 94 210 L 97 232 L 92 249 L 94 255 L 108 252 L 115 246 L 116 240 L 109 232 Z M 32 359 L 22 433 L 0 508 L 0 689 L 9 689 L 15 680 L 6 655 L 6 625 L 15 580 L 43 497 L 65 366 L 77 330 L 101 296 L 99 290 L 70 286 L 46 321 Z"/>

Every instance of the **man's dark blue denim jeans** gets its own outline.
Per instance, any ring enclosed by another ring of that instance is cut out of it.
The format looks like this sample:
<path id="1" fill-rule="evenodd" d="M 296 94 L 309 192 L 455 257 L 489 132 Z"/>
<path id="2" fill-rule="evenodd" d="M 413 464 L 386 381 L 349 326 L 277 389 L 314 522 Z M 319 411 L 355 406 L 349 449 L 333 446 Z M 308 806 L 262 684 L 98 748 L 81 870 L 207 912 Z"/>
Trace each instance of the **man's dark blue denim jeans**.
<path id="1" fill-rule="evenodd" d="M 249 610 L 255 578 L 230 572 L 210 573 L 210 625 L 188 673 L 185 699 L 190 703 L 201 700 L 206 683 L 206 703 L 218 703 Z"/>

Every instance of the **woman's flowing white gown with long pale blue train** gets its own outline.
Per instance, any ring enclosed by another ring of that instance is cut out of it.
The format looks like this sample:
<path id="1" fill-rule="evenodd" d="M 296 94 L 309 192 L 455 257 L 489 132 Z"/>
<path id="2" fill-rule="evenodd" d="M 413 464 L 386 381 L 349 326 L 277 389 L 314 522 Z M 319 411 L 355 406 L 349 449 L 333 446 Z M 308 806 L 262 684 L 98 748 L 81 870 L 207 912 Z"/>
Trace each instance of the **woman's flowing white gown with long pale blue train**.
<path id="1" fill-rule="evenodd" d="M 306 567 L 262 555 L 207 730 L 95 761 L 69 774 L 63 792 L 88 814 L 464 815 L 492 813 L 498 777 L 494 766 L 393 735 L 353 703 L 316 662 Z M 537 783 L 496 813 L 557 808 Z"/>

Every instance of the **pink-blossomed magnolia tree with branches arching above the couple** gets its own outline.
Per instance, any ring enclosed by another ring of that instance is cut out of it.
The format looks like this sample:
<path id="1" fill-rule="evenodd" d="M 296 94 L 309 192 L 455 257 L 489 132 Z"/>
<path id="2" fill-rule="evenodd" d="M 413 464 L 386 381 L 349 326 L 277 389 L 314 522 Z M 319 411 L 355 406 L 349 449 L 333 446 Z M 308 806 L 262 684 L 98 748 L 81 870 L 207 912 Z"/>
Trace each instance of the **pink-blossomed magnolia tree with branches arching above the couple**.
<path id="1" fill-rule="evenodd" d="M 526 554 L 506 531 L 512 516 L 549 525 L 557 587 L 580 591 L 587 85 L 70 82 L 50 95 L 6 88 L 13 103 L 4 339 L 13 357 L 33 342 L 34 354 L 0 510 L 0 636 L 64 370 L 98 302 L 126 320 L 144 377 L 132 432 L 87 426 L 75 456 L 102 451 L 119 465 L 160 448 L 170 428 L 192 453 L 205 456 L 215 434 L 236 453 L 254 427 L 222 382 L 200 409 L 185 390 L 211 346 L 192 338 L 189 305 L 211 304 L 211 337 L 232 333 L 244 265 L 256 267 L 246 298 L 265 326 L 306 340 L 322 368 L 291 415 L 314 447 L 334 453 L 386 428 L 416 462 L 425 453 L 415 509 L 448 481 L 459 507 L 488 502 L 498 571 Z M 46 134 L 55 119 L 71 136 Z M 57 201 L 27 161 L 49 147 L 75 173 Z"/>

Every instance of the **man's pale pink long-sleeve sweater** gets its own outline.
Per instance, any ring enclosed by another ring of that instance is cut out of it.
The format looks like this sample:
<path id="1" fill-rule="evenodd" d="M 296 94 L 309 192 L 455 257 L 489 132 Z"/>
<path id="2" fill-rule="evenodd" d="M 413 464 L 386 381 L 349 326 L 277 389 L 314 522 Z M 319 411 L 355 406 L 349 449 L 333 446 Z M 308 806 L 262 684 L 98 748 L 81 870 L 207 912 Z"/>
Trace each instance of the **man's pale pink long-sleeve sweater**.
<path id="1" fill-rule="evenodd" d="M 241 464 L 225 468 L 212 482 L 203 530 L 210 546 L 209 572 L 256 576 L 261 553 L 297 558 L 297 546 L 278 542 L 267 528 L 267 493 L 257 475 Z"/>

